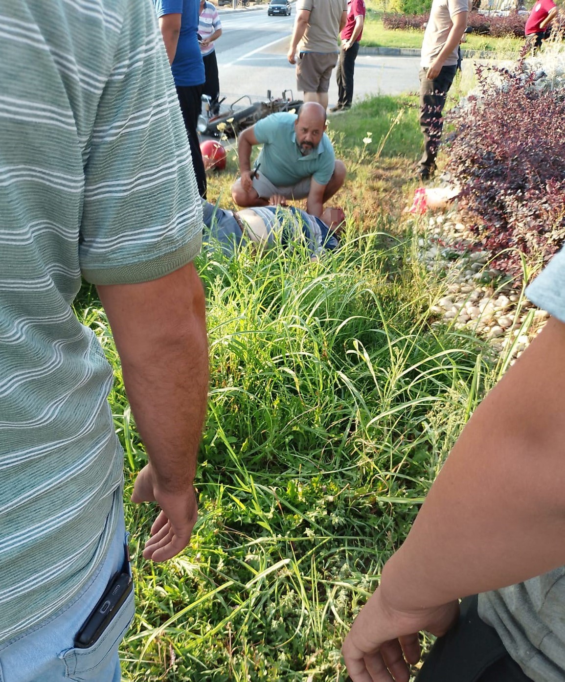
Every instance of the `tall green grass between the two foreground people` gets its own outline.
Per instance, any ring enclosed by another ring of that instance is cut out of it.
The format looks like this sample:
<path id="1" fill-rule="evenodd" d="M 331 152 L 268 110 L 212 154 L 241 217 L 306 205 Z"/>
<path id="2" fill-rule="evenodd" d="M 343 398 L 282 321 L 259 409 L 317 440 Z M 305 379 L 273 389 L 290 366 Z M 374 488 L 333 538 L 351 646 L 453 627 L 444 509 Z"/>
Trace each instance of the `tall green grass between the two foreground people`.
<path id="1" fill-rule="evenodd" d="M 332 119 L 350 169 L 339 252 L 198 258 L 211 358 L 200 518 L 189 548 L 154 565 L 140 546 L 155 511 L 126 505 L 137 597 L 127 681 L 344 681 L 348 625 L 495 379 L 483 342 L 430 325 L 444 284 L 418 260 L 423 226 L 401 222 L 395 177 L 421 144 L 407 102 L 373 98 Z M 230 158 L 211 196 L 229 203 L 234 173 Z M 92 288 L 77 310 L 116 374 L 128 499 L 146 458 Z"/>

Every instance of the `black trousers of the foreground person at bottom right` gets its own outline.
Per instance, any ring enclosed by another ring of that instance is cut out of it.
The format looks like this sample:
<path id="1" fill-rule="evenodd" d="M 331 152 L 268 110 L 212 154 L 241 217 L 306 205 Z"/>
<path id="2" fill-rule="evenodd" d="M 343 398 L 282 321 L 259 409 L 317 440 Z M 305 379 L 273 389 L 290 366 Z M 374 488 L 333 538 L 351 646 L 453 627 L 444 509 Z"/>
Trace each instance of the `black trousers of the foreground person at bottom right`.
<path id="1" fill-rule="evenodd" d="M 416 682 L 532 682 L 477 612 L 477 596 L 461 602 L 457 625 L 438 638 Z"/>

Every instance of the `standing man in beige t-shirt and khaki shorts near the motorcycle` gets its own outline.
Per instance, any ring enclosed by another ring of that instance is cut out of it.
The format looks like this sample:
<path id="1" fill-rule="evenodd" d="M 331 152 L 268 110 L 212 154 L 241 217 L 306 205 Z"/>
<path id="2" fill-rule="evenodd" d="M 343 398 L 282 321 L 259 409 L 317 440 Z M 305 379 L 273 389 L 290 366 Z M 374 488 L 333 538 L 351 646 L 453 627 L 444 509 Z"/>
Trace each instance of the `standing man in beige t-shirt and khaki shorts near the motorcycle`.
<path id="1" fill-rule="evenodd" d="M 337 36 L 347 20 L 347 0 L 299 0 L 288 61 L 296 64 L 296 87 L 305 102 L 328 108 L 330 77 L 339 48 Z M 296 58 L 296 48 L 299 56 Z"/>

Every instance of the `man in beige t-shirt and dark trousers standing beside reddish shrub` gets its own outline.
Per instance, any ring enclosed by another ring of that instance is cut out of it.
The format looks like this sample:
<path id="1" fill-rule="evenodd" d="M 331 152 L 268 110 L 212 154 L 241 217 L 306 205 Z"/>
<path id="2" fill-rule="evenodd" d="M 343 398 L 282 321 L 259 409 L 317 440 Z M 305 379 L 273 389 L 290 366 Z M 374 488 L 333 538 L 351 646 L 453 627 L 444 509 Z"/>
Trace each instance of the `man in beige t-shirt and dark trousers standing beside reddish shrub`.
<path id="1" fill-rule="evenodd" d="M 420 62 L 420 127 L 424 153 L 418 177 L 429 179 L 436 170 L 442 136 L 442 112 L 457 71 L 457 50 L 467 27 L 470 0 L 433 0 L 422 43 Z"/>

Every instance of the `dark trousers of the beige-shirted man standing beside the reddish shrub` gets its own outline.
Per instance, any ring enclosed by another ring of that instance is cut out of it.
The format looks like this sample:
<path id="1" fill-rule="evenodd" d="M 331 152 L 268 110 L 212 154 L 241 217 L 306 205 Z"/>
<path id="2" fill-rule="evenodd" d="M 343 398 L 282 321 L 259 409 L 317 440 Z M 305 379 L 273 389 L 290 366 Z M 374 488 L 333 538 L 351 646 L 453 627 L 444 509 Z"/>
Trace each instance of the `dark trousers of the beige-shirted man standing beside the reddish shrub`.
<path id="1" fill-rule="evenodd" d="M 420 129 L 424 136 L 424 153 L 420 168 L 433 169 L 440 147 L 444 119 L 442 112 L 447 93 L 455 78 L 457 66 L 444 66 L 437 78 L 426 77 L 427 68 L 420 70 Z"/>

